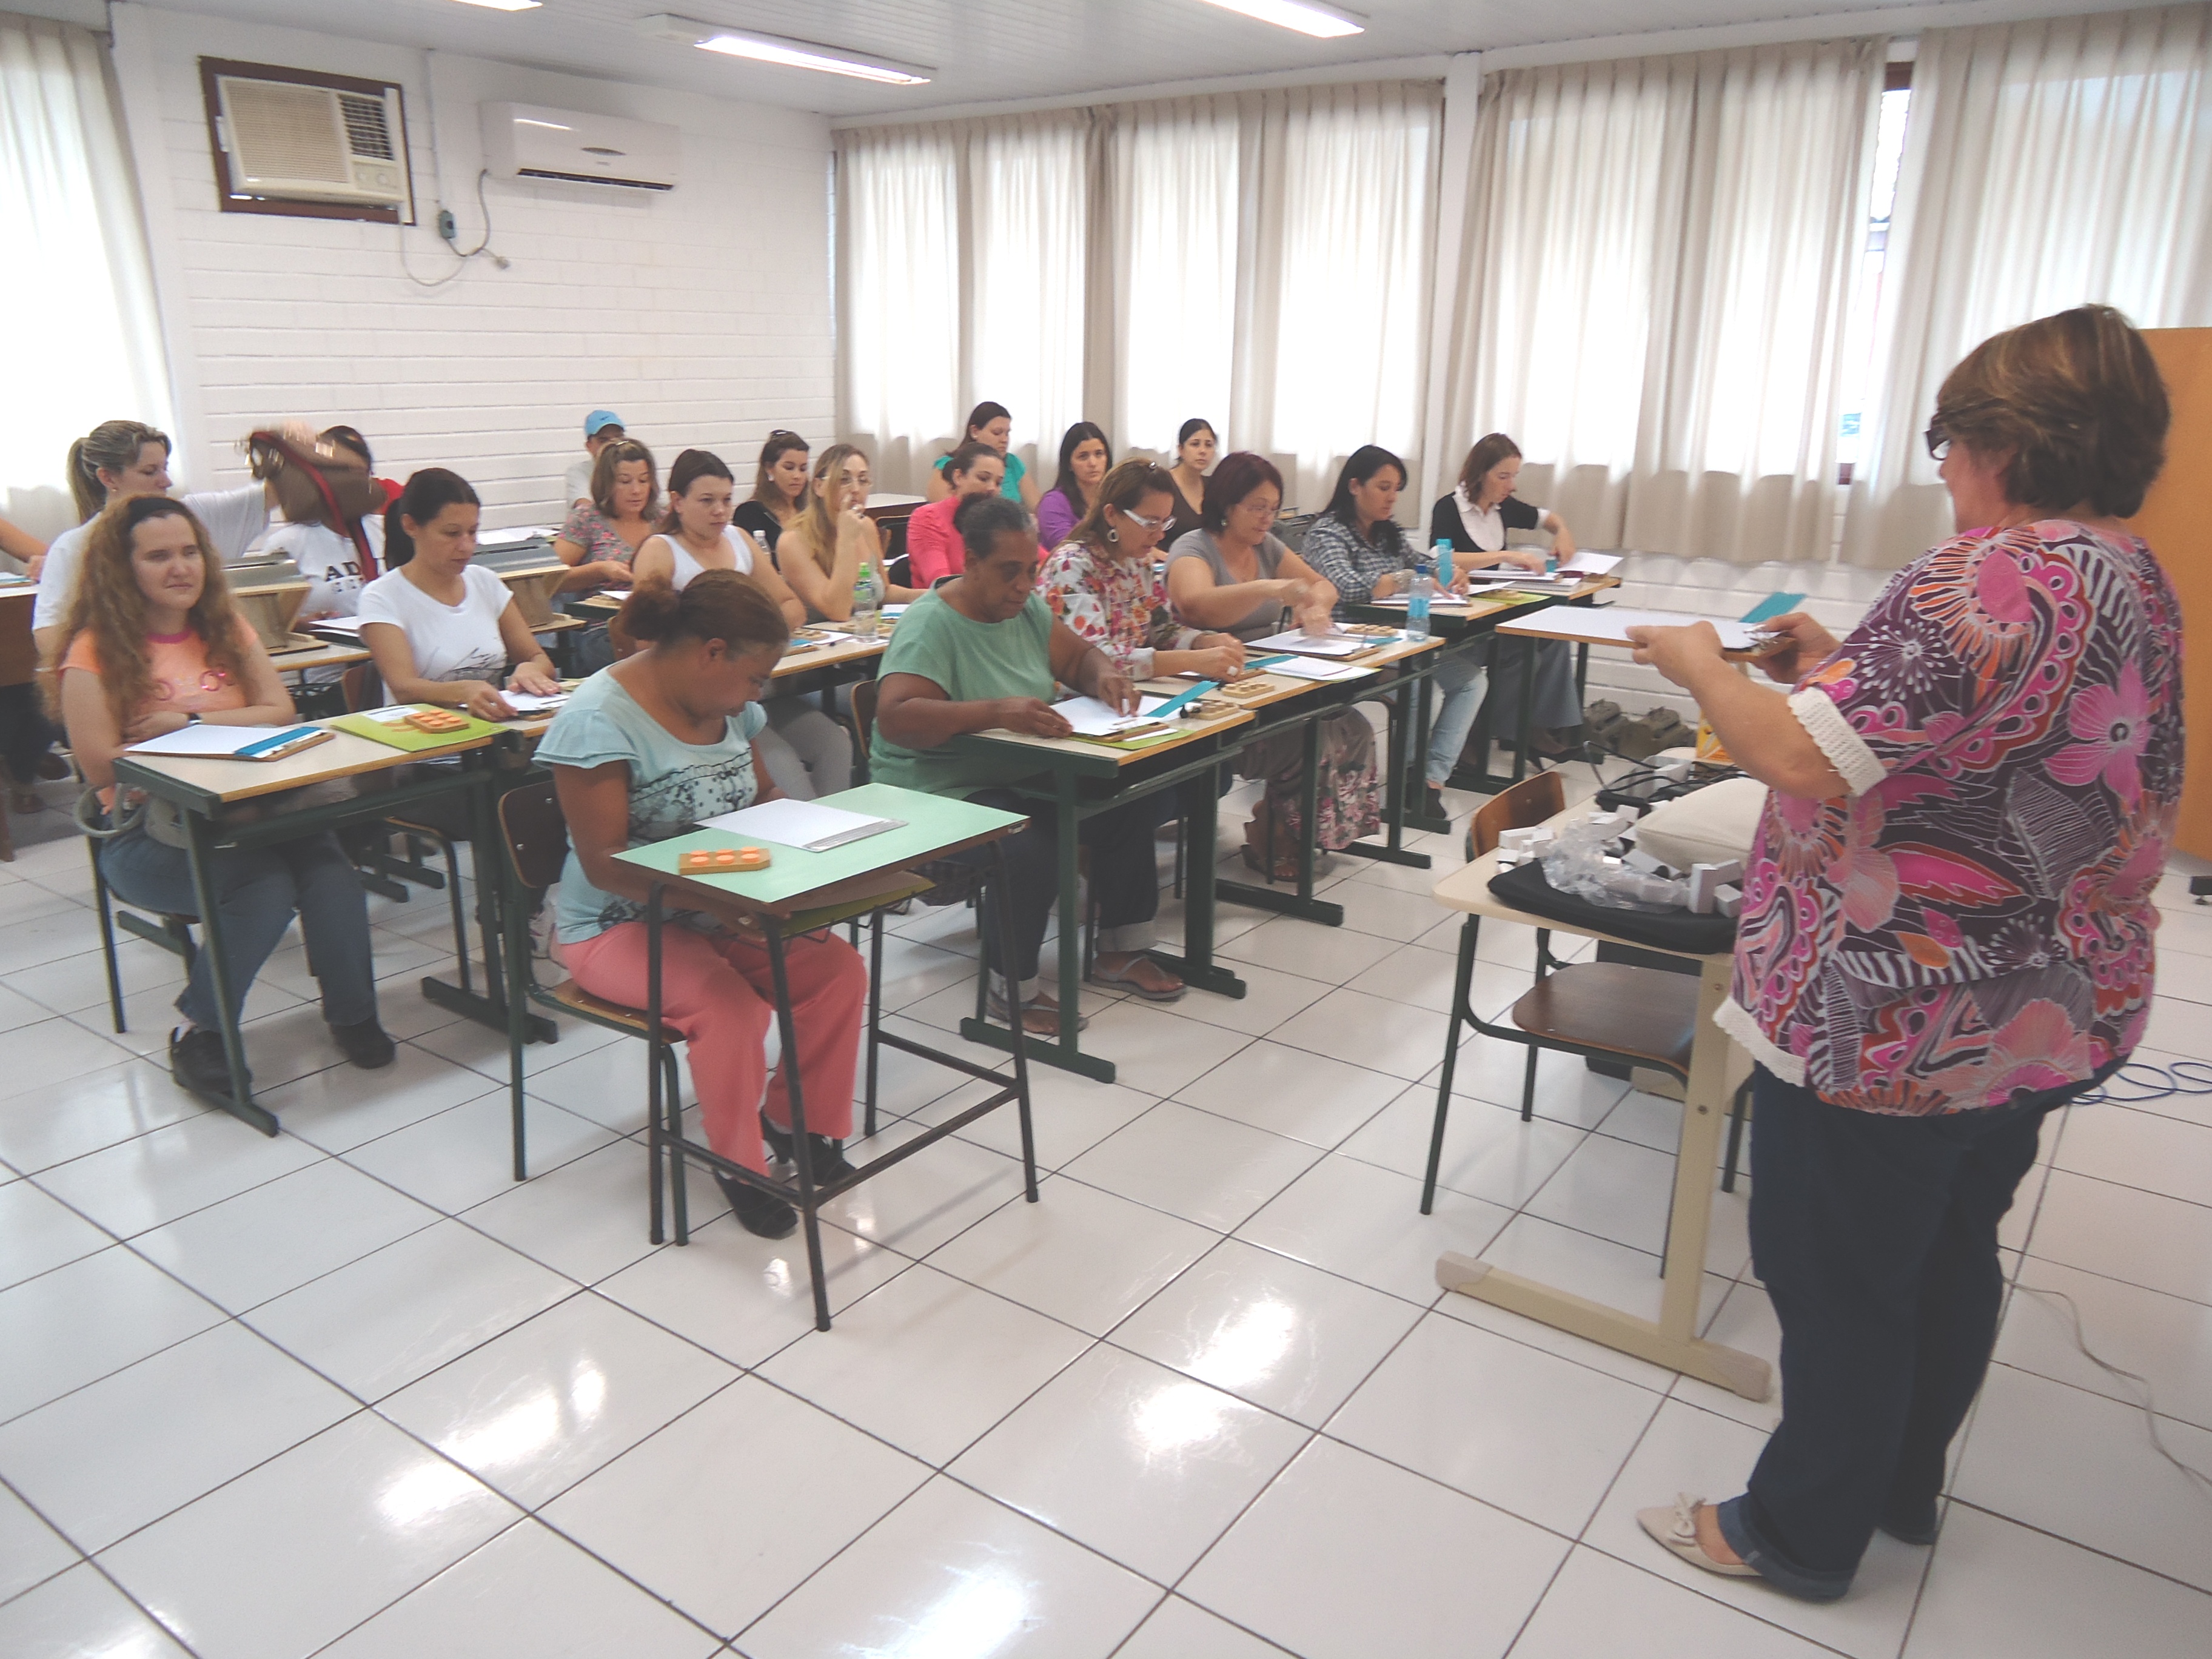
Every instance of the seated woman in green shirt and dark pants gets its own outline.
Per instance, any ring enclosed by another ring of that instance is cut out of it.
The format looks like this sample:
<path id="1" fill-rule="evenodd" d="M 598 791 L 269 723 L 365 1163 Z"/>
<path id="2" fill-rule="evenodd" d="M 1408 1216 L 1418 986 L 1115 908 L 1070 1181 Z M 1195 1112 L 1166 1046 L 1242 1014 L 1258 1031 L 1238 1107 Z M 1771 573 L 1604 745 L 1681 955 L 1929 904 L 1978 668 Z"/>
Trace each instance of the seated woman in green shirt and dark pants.
<path id="1" fill-rule="evenodd" d="M 1066 737 L 1068 723 L 1051 706 L 1055 681 L 1121 710 L 1135 710 L 1137 695 L 1113 657 L 1057 622 L 1037 595 L 1037 526 L 1020 502 L 978 495 L 960 509 L 953 526 L 967 555 L 960 575 L 916 599 L 883 653 L 869 763 L 878 783 L 1029 816 L 1029 827 L 1004 843 L 1020 951 L 1011 971 L 1024 1029 L 1048 1037 L 1060 1031 L 1060 1004 L 1037 980 L 1037 949 L 1060 898 L 1053 807 L 1002 787 L 1037 768 L 1018 759 L 956 754 L 947 743 L 991 728 Z M 1091 980 L 1150 1002 L 1183 995 L 1183 982 L 1146 956 L 1159 914 L 1152 832 L 1172 810 L 1172 796 L 1161 792 L 1086 818 L 1079 832 L 1091 849 L 1091 894 L 1099 907 L 1099 953 Z M 989 856 L 989 849 L 958 854 L 975 865 Z M 995 969 L 991 1013 L 1006 1020 L 995 902 L 998 896 L 987 891 L 982 940 L 984 960 Z"/>

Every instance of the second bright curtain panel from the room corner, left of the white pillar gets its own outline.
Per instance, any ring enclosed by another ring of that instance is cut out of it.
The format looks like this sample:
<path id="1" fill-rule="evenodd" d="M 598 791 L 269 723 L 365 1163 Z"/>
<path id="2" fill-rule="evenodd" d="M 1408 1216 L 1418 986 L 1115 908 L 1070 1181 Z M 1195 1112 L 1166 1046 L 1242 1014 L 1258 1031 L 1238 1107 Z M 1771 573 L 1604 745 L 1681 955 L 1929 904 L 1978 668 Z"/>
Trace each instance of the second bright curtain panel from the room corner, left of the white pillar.
<path id="1" fill-rule="evenodd" d="M 1051 489 L 1060 434 L 1086 418 L 1088 113 L 980 124 L 969 139 L 969 201 L 975 310 L 962 403 L 1004 403 L 1015 447 L 1033 451 L 1037 489 Z"/>

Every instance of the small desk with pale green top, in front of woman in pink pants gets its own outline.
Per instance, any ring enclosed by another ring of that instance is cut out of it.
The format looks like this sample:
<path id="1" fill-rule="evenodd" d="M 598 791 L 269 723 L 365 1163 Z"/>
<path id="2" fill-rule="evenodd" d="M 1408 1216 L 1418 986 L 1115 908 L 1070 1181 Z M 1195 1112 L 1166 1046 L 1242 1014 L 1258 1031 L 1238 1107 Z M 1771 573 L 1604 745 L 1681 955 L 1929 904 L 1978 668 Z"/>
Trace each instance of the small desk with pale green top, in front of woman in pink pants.
<path id="1" fill-rule="evenodd" d="M 823 1248 L 821 1248 L 821 1206 L 841 1192 L 849 1192 L 863 1181 L 874 1179 L 883 1170 L 900 1164 L 925 1146 L 942 1141 L 947 1135 L 973 1124 L 978 1117 L 998 1110 L 1000 1106 L 1013 1102 L 1022 1121 L 1022 1175 L 1024 1175 L 1024 1197 L 1037 1201 L 1037 1155 L 1035 1135 L 1029 1117 L 1029 1044 L 1022 1042 L 1022 1033 L 1009 1033 L 1004 1044 L 1013 1053 L 1013 1073 L 993 1071 L 989 1066 L 978 1066 L 975 1062 L 951 1055 L 940 1048 L 900 1037 L 896 1033 L 885 1033 L 883 1026 L 883 905 L 896 902 L 896 898 L 907 896 L 916 887 L 911 876 L 914 865 L 925 865 L 938 858 L 947 858 L 956 852 L 991 845 L 991 880 L 998 885 L 1000 894 L 1006 894 L 1006 856 L 1004 838 L 1022 827 L 1022 816 L 1018 812 L 998 812 L 993 807 L 978 807 L 969 801 L 951 801 L 947 796 L 920 794 L 916 790 L 898 790 L 889 783 L 865 783 L 858 790 L 843 790 L 838 794 L 825 796 L 823 805 L 845 807 L 849 812 L 867 812 L 872 816 L 898 818 L 898 830 L 887 830 L 883 834 L 869 836 L 865 841 L 854 841 L 830 852 L 803 852 L 799 847 L 781 847 L 768 843 L 774 854 L 774 863 L 757 874 L 745 876 L 681 876 L 677 874 L 677 860 L 686 852 L 695 849 L 719 849 L 719 847 L 741 847 L 745 841 L 741 836 L 728 834 L 723 830 L 692 830 L 686 836 L 675 836 L 672 841 L 655 841 L 644 847 L 630 847 L 617 854 L 628 865 L 653 876 L 653 891 L 646 902 L 646 1033 L 650 1044 L 648 1055 L 648 1141 L 653 1157 L 653 1214 L 655 1214 L 655 1237 L 659 1243 L 659 1152 L 668 1150 L 672 1168 L 672 1190 L 670 1208 L 675 1212 L 677 1243 L 690 1241 L 690 1225 L 686 1214 L 684 1194 L 684 1166 L 686 1161 L 703 1164 L 717 1175 L 743 1181 L 757 1190 L 770 1192 L 783 1201 L 794 1201 L 799 1212 L 805 1217 L 807 1232 L 807 1267 L 814 1276 L 814 1327 L 830 1329 L 830 1292 L 823 1276 Z M 661 931 L 666 925 L 666 907 L 681 905 L 686 909 L 706 909 L 721 916 L 748 918 L 761 931 L 761 942 L 768 949 L 768 969 L 774 984 L 776 1000 L 776 1035 L 783 1044 L 783 1086 L 785 1097 L 792 1108 L 792 1152 L 799 1166 L 799 1188 L 792 1190 L 781 1181 L 774 1181 L 757 1170 L 748 1170 L 741 1164 L 732 1164 L 717 1155 L 712 1148 L 684 1137 L 684 1102 L 661 1099 L 661 1066 L 664 1053 L 668 1048 L 668 1029 L 661 1024 Z M 1013 905 L 1002 902 L 998 907 L 1002 947 L 1011 949 L 1013 942 Z M 790 982 L 785 978 L 783 947 L 785 940 L 796 933 L 807 933 L 818 927 L 834 927 L 841 920 L 869 916 L 872 918 L 872 971 L 869 971 L 869 1004 L 867 1004 L 867 1106 L 869 1119 L 874 1119 L 876 1104 L 876 1051 L 880 1044 L 891 1044 L 894 1048 L 929 1060 L 949 1071 L 964 1073 L 998 1088 L 975 1106 L 967 1106 L 953 1113 L 942 1124 L 900 1141 L 889 1152 L 869 1159 L 858 1166 L 852 1175 L 818 1183 L 814 1179 L 814 1157 L 807 1146 L 807 1108 L 805 1091 L 801 1086 L 799 1066 L 794 1055 L 799 1055 L 799 1037 L 792 1029 L 792 995 Z M 520 1004 L 515 1004 L 520 1006 Z M 509 1037 L 513 1062 L 515 1062 L 515 1099 L 520 1104 L 520 1029 Z"/>

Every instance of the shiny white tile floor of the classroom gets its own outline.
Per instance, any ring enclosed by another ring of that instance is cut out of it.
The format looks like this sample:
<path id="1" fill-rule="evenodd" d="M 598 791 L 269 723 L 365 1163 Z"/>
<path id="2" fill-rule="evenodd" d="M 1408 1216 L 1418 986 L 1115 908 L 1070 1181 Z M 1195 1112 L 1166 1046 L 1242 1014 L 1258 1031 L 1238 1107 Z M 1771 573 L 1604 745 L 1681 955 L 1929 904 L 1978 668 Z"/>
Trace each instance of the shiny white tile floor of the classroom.
<path id="1" fill-rule="evenodd" d="M 509 1181 L 502 1044 L 414 989 L 434 900 L 374 900 L 396 1068 L 332 1064 L 292 945 L 248 1035 L 285 1133 L 181 1097 L 144 1057 L 175 967 L 124 947 L 113 1035 L 58 818 L 0 865 L 11 1659 L 2212 1650 L 2212 1495 L 2042 1296 L 1933 1551 L 1878 1540 L 1814 1608 L 1650 1546 L 1632 1511 L 1736 1491 L 1774 1402 L 1436 1292 L 1438 1250 L 1486 1250 L 1655 1307 L 1674 1108 L 1546 1060 L 1524 1126 L 1520 1051 L 1475 1037 L 1420 1217 L 1433 876 L 1338 860 L 1343 929 L 1225 909 L 1245 1002 L 1097 998 L 1121 1079 L 1040 1071 L 1042 1203 L 1011 1115 L 898 1166 L 827 1217 L 821 1336 L 803 1252 L 706 1181 L 697 1241 L 646 1241 L 626 1040 L 533 1053 Z M 2212 1060 L 2212 911 L 2163 898 L 2146 1057 Z M 898 925 L 902 1029 L 953 1040 L 973 949 L 967 911 Z M 1526 962 L 1486 929 L 1478 998 Z M 883 1139 L 973 1097 L 887 1057 Z M 1708 1329 L 1772 1356 L 1743 1194 L 1714 1217 Z M 2073 1108 L 2006 1237 L 2212 1467 L 2212 1095 Z"/>

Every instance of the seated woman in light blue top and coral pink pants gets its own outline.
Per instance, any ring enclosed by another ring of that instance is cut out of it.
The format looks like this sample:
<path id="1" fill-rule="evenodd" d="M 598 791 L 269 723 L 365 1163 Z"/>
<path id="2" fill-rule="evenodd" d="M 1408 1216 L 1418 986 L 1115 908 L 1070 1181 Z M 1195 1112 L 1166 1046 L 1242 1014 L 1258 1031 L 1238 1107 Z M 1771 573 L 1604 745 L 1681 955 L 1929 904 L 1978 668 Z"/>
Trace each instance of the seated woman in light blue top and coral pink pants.
<path id="1" fill-rule="evenodd" d="M 577 688 L 538 745 L 538 761 L 553 768 L 568 821 L 568 863 L 553 891 L 562 960 L 593 995 L 641 1009 L 650 876 L 615 854 L 779 799 L 774 783 L 761 781 L 754 743 L 768 723 L 761 692 L 792 630 L 774 602 L 734 571 L 708 571 L 681 593 L 639 584 L 622 624 L 646 650 Z M 832 933 L 785 945 L 799 1053 L 783 1055 L 768 1077 L 776 1011 L 765 947 L 706 911 L 670 920 L 661 931 L 661 1018 L 684 1033 L 708 1146 L 765 1175 L 765 1135 L 776 1157 L 790 1159 L 785 1077 L 796 1064 L 814 1179 L 849 1175 L 841 1141 L 852 1133 L 867 993 L 860 953 Z M 799 1225 L 781 1199 L 717 1179 L 748 1232 L 783 1239 Z"/>

